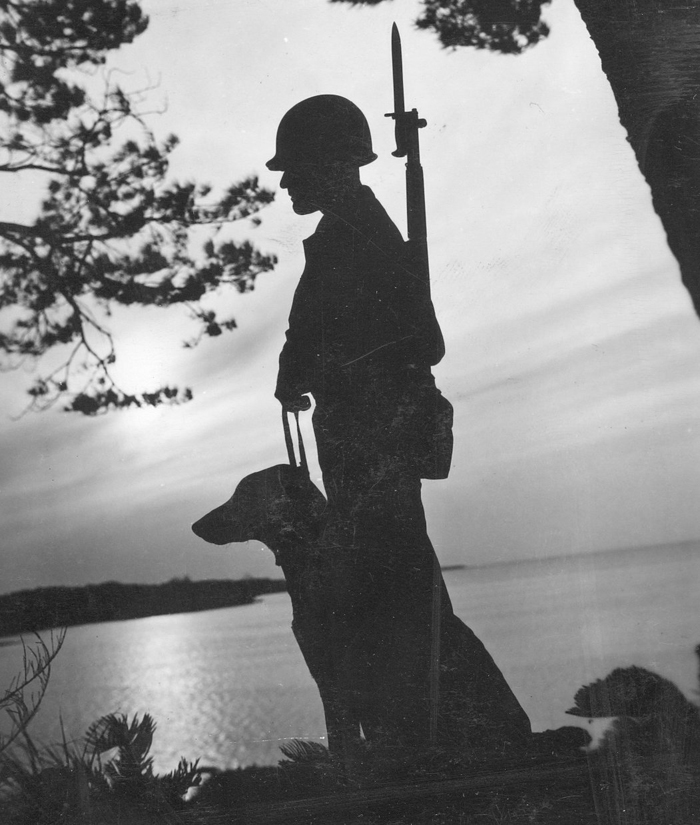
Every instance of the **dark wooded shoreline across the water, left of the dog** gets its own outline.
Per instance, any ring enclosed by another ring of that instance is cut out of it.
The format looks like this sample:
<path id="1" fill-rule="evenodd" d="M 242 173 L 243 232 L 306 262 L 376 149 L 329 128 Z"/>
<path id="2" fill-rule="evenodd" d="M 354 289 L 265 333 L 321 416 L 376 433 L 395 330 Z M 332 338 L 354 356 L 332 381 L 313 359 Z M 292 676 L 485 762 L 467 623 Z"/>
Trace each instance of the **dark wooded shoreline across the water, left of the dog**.
<path id="1" fill-rule="evenodd" d="M 236 607 L 251 604 L 258 596 L 286 589 L 284 579 L 191 581 L 183 578 L 164 584 L 104 582 L 20 590 L 0 595 L 0 637 L 54 627 Z"/>

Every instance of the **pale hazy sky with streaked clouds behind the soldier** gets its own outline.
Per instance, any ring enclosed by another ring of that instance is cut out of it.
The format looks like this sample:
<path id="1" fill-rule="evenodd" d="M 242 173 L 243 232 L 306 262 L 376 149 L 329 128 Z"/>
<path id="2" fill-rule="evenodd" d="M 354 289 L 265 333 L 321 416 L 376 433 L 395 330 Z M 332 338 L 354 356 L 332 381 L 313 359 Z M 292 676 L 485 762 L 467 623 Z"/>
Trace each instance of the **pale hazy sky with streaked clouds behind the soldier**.
<path id="1" fill-rule="evenodd" d="M 518 57 L 441 49 L 413 27 L 419 3 L 147 0 L 147 32 L 111 59 L 154 86 L 149 123 L 181 144 L 171 173 L 277 189 L 277 123 L 321 93 L 365 112 L 379 160 L 363 169 L 405 231 L 393 158 L 390 30 L 421 132 L 433 300 L 455 406 L 450 477 L 424 484 L 444 564 L 483 564 L 700 538 L 700 322 L 570 0 Z M 36 182 L 0 193 L 30 215 Z M 0 374 L 0 591 L 106 580 L 280 575 L 257 543 L 206 545 L 190 525 L 243 476 L 285 461 L 273 397 L 286 319 L 318 216 L 286 194 L 241 223 L 278 256 L 254 292 L 212 306 L 238 329 L 195 350 L 178 309 L 123 310 L 115 374 L 129 390 L 178 382 L 181 407 L 88 419 L 20 415 L 32 365 Z M 310 416 L 303 427 L 313 453 Z M 312 474 L 320 474 L 312 462 Z"/>

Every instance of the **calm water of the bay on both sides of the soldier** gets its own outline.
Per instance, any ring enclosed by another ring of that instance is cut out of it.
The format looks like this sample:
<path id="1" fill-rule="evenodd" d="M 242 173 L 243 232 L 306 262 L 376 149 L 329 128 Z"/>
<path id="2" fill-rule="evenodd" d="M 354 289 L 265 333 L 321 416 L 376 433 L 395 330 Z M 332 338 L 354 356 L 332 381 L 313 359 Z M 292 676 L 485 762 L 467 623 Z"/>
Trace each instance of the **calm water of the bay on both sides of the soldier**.
<path id="1" fill-rule="evenodd" d="M 496 659 L 535 730 L 584 683 L 641 665 L 696 698 L 700 545 L 446 571 L 455 612 Z M 244 607 L 70 628 L 30 728 L 55 742 L 102 714 L 149 712 L 157 771 L 181 756 L 274 764 L 293 738 L 324 741 L 323 711 L 290 629 L 286 594 Z M 20 662 L 0 647 L 0 684 Z M 585 723 L 584 723 L 585 724 Z"/>

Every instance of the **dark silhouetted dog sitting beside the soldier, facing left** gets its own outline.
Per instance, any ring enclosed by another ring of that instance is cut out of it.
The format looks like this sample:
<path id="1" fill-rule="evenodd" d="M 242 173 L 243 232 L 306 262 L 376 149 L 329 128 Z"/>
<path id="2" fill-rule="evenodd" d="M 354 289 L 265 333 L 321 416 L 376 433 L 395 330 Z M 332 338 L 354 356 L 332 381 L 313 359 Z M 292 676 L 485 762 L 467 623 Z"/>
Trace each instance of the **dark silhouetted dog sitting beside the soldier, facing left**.
<path id="1" fill-rule="evenodd" d="M 292 602 L 292 630 L 323 703 L 329 750 L 346 758 L 348 743 L 361 734 L 369 743 L 390 745 L 410 726 L 405 673 L 415 605 L 399 592 L 388 593 L 362 617 L 339 660 L 332 643 L 332 595 L 323 578 L 325 508 L 308 473 L 281 464 L 244 478 L 192 530 L 218 545 L 256 539 L 274 553 Z M 484 645 L 452 612 L 442 576 L 439 587 L 438 742 L 499 751 L 524 743 L 530 735 L 525 711 Z"/>

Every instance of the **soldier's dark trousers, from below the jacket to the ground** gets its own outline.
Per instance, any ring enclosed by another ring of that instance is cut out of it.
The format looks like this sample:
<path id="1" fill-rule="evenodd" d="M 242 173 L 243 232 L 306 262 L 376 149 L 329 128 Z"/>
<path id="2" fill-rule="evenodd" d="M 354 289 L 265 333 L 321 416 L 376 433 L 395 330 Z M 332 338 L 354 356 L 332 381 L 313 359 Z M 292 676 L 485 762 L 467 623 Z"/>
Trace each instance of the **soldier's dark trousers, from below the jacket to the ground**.
<path id="1" fill-rule="evenodd" d="M 328 497 L 319 559 L 329 643 L 365 736 L 408 746 L 428 735 L 434 553 L 420 478 L 377 437 L 376 418 L 352 412 L 314 414 Z"/>

